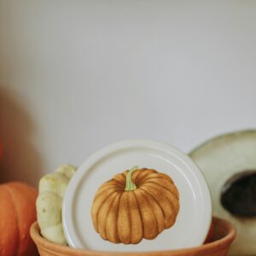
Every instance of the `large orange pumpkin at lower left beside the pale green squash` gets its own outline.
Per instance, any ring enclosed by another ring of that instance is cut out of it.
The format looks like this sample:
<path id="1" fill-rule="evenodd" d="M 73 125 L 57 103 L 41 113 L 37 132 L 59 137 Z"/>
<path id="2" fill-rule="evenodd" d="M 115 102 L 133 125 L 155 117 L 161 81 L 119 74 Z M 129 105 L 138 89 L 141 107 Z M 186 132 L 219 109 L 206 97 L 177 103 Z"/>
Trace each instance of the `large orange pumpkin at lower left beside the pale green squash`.
<path id="1" fill-rule="evenodd" d="M 0 255 L 35 256 L 37 248 L 29 235 L 37 218 L 38 192 L 31 186 L 11 182 L 0 185 Z"/>

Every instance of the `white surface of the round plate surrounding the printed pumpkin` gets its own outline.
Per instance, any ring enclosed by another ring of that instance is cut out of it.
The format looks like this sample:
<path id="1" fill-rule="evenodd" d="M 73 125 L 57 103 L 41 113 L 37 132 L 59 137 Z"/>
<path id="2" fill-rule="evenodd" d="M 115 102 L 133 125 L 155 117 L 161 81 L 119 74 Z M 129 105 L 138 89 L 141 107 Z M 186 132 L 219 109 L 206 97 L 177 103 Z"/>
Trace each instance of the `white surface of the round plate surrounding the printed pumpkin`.
<path id="1" fill-rule="evenodd" d="M 104 241 L 94 230 L 90 218 L 96 190 L 114 174 L 135 165 L 153 168 L 172 177 L 180 194 L 176 223 L 154 240 L 143 239 L 137 245 Z M 177 148 L 148 140 L 116 143 L 90 156 L 68 184 L 62 207 L 68 244 L 100 251 L 161 251 L 199 246 L 207 236 L 211 220 L 211 196 L 198 167 Z"/>

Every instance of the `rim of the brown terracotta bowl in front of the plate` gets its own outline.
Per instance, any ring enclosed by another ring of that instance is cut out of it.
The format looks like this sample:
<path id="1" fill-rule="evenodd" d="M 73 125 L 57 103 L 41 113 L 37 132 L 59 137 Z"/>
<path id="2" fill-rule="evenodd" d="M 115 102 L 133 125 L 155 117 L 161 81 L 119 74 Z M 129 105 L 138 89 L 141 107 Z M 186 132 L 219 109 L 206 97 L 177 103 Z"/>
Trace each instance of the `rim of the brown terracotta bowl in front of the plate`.
<path id="1" fill-rule="evenodd" d="M 88 256 L 146 256 L 146 255 L 169 255 L 172 253 L 172 256 L 181 255 L 180 253 L 189 253 L 191 251 L 196 252 L 204 252 L 207 253 L 208 251 L 214 252 L 224 247 L 228 247 L 232 241 L 236 238 L 236 228 L 233 224 L 223 218 L 212 218 L 213 227 L 218 227 L 218 229 L 227 230 L 227 235 L 218 239 L 216 241 L 212 241 L 206 244 L 203 244 L 199 247 L 190 247 L 185 249 L 178 249 L 178 250 L 168 250 L 168 251 L 151 251 L 151 252 L 105 252 L 105 251 L 91 251 L 91 250 L 82 250 L 82 249 L 74 249 L 73 247 L 67 247 L 64 245 L 56 244 L 52 241 L 46 240 L 43 236 L 40 235 L 38 222 L 35 221 L 30 228 L 30 234 L 32 236 L 32 240 L 35 241 L 37 247 L 44 248 L 44 251 L 52 252 L 52 248 L 54 248 L 59 253 L 73 253 L 74 256 L 79 256 L 81 253 Z M 213 228 L 214 229 L 214 228 Z"/>

